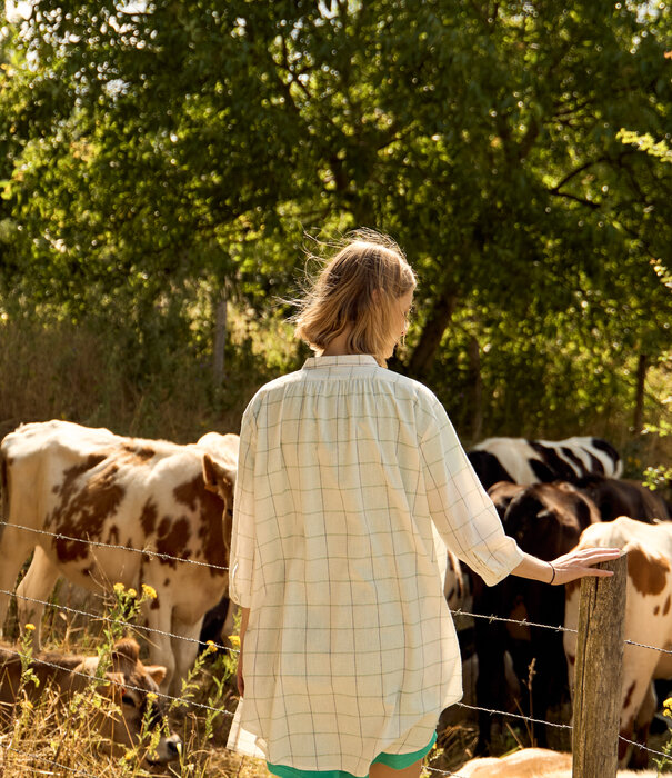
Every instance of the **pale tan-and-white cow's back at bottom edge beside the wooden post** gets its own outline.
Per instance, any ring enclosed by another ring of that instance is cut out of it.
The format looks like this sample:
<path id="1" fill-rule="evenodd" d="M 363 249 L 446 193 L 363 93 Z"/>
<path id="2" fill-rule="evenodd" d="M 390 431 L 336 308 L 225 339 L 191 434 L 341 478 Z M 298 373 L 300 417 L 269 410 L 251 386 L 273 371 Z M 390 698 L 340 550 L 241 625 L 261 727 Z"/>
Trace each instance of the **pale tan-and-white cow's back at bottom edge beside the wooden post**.
<path id="1" fill-rule="evenodd" d="M 572 778 L 572 755 L 548 748 L 523 748 L 504 757 L 471 759 L 457 778 Z M 655 778 L 658 770 L 619 770 L 616 778 Z"/>

